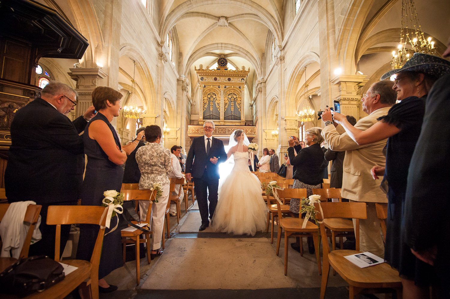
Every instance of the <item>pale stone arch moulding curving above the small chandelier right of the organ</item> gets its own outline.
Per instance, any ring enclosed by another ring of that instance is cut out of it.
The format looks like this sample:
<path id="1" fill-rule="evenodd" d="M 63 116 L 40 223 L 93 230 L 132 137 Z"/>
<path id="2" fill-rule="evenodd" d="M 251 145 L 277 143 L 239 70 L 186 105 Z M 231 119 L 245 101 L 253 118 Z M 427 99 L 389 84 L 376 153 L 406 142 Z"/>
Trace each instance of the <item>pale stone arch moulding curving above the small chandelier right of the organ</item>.
<path id="1" fill-rule="evenodd" d="M 304 54 L 298 61 L 293 71 L 289 75 L 288 84 L 286 88 L 286 105 L 281 107 L 281 113 L 286 116 L 293 116 L 297 112 L 296 107 L 296 90 L 300 82 L 300 78 L 304 72 L 304 67 L 312 62 L 320 63 L 319 55 L 315 52 L 308 52 Z"/>

